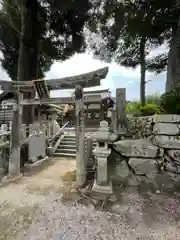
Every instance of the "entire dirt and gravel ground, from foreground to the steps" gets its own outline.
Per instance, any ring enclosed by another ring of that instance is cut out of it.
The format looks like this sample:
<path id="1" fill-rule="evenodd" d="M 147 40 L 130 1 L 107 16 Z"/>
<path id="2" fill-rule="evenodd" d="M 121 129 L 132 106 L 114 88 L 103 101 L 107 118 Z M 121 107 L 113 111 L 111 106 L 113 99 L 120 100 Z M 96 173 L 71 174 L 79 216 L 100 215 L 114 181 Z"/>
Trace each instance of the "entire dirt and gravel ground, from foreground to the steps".
<path id="1" fill-rule="evenodd" d="M 5 240 L 180 240 L 180 195 L 125 189 L 110 211 L 81 205 L 61 176 L 75 161 L 54 160 L 0 189 L 0 239 Z M 118 188 L 118 187 L 117 187 Z M 116 190 L 118 190 L 116 188 Z M 119 187 L 120 188 L 120 187 Z"/>

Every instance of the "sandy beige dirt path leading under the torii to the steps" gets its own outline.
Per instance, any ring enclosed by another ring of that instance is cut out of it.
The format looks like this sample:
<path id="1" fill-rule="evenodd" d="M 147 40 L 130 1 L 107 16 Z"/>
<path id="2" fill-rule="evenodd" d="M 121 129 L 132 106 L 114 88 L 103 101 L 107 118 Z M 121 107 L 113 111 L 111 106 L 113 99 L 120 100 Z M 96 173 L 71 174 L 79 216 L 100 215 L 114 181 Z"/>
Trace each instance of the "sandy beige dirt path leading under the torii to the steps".
<path id="1" fill-rule="evenodd" d="M 47 196 L 55 193 L 60 196 L 65 191 L 61 177 L 74 169 L 74 160 L 55 159 L 26 172 L 17 183 L 1 187 L 0 240 L 15 239 L 17 232 L 26 231 Z"/>

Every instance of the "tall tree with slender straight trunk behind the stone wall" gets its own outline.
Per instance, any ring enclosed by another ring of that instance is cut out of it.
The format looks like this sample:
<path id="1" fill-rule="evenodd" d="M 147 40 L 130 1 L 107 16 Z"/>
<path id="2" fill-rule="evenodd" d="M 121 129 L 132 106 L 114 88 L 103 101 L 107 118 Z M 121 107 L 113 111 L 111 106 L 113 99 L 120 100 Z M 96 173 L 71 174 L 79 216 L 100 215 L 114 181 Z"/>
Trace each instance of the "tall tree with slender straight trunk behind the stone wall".
<path id="1" fill-rule="evenodd" d="M 95 31 L 101 44 L 93 45 L 94 54 L 127 67 L 141 66 L 140 95 L 144 105 L 147 68 L 158 70 L 158 73 L 167 64 L 165 56 L 155 59 L 147 59 L 147 56 L 152 47 L 170 38 L 174 19 L 172 3 L 161 0 L 110 0 L 103 1 L 99 9 L 94 18 L 98 25 Z M 92 28 L 90 30 L 94 31 Z"/>

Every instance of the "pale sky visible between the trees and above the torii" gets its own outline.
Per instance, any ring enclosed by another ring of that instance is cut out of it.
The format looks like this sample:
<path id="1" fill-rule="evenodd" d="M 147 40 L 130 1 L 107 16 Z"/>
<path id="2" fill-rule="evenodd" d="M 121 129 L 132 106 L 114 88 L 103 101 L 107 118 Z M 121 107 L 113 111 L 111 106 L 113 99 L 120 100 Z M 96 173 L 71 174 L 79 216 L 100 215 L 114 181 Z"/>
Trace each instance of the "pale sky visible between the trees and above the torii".
<path id="1" fill-rule="evenodd" d="M 66 76 L 73 76 L 76 74 L 86 73 L 89 71 L 96 70 L 108 66 L 109 73 L 106 79 L 101 81 L 101 86 L 91 88 L 91 89 L 106 89 L 109 88 L 112 94 L 115 94 L 116 88 L 126 88 L 126 98 L 128 100 L 139 98 L 139 79 L 140 70 L 126 69 L 120 67 L 115 63 L 107 64 L 99 60 L 93 59 L 92 55 L 76 54 L 71 59 L 61 63 L 55 62 L 51 70 L 46 74 L 46 78 L 61 78 Z M 0 69 L 0 79 L 9 79 L 6 72 Z M 166 73 L 160 75 L 155 75 L 152 73 L 147 73 L 146 80 L 152 80 L 146 85 L 146 93 L 163 93 L 165 89 Z M 52 96 L 54 97 L 64 97 L 71 94 L 69 91 L 53 91 Z"/>

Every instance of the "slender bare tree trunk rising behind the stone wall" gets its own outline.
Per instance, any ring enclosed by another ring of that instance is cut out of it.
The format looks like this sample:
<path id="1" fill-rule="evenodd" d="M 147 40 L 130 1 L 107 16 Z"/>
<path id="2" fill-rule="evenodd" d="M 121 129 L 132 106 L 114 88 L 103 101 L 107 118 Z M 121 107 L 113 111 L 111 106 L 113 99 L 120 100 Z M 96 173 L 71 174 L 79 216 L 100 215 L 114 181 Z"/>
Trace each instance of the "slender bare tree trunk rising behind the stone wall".
<path id="1" fill-rule="evenodd" d="M 141 68 L 141 80 L 140 80 L 140 101 L 141 106 L 146 104 L 145 85 L 146 85 L 146 60 L 145 60 L 145 37 L 141 38 L 140 42 L 140 68 Z"/>

